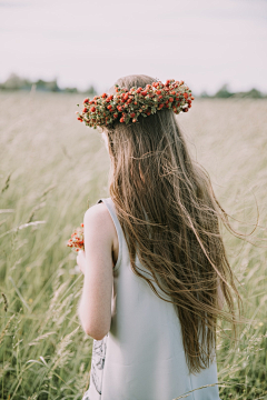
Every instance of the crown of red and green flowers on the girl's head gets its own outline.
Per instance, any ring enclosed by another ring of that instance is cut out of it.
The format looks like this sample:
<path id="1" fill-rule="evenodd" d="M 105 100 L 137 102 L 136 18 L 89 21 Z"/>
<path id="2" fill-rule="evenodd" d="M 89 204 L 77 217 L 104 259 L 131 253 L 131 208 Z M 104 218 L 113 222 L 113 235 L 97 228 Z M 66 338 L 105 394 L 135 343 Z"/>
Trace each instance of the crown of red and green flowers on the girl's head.
<path id="1" fill-rule="evenodd" d="M 191 90 L 184 81 L 167 80 L 147 84 L 146 88 L 119 88 L 115 84 L 117 94 L 102 93 L 92 100 L 83 100 L 82 113 L 77 111 L 77 119 L 86 126 L 109 126 L 117 119 L 120 122 L 137 122 L 138 117 L 148 117 L 157 111 L 172 108 L 175 113 L 187 112 L 195 99 Z M 79 107 L 79 104 L 77 104 Z"/>

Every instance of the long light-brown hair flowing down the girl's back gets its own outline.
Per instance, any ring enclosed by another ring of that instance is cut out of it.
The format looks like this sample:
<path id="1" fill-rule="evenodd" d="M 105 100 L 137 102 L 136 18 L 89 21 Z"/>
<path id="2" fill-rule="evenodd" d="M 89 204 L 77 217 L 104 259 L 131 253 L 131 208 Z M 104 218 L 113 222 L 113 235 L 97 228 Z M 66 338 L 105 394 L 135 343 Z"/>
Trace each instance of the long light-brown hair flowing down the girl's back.
<path id="1" fill-rule="evenodd" d="M 154 81 L 147 76 L 128 76 L 116 83 L 130 89 Z M 116 93 L 115 87 L 109 93 Z M 103 130 L 111 159 L 109 192 L 127 240 L 131 269 L 168 301 L 139 272 L 138 256 L 175 304 L 189 371 L 199 372 L 212 359 L 218 317 L 231 322 L 236 332 L 234 294 L 238 308 L 240 297 L 219 221 L 235 231 L 207 171 L 190 158 L 171 110 L 140 117 L 131 124 L 115 121 Z M 218 306 L 218 284 L 228 311 Z"/>

